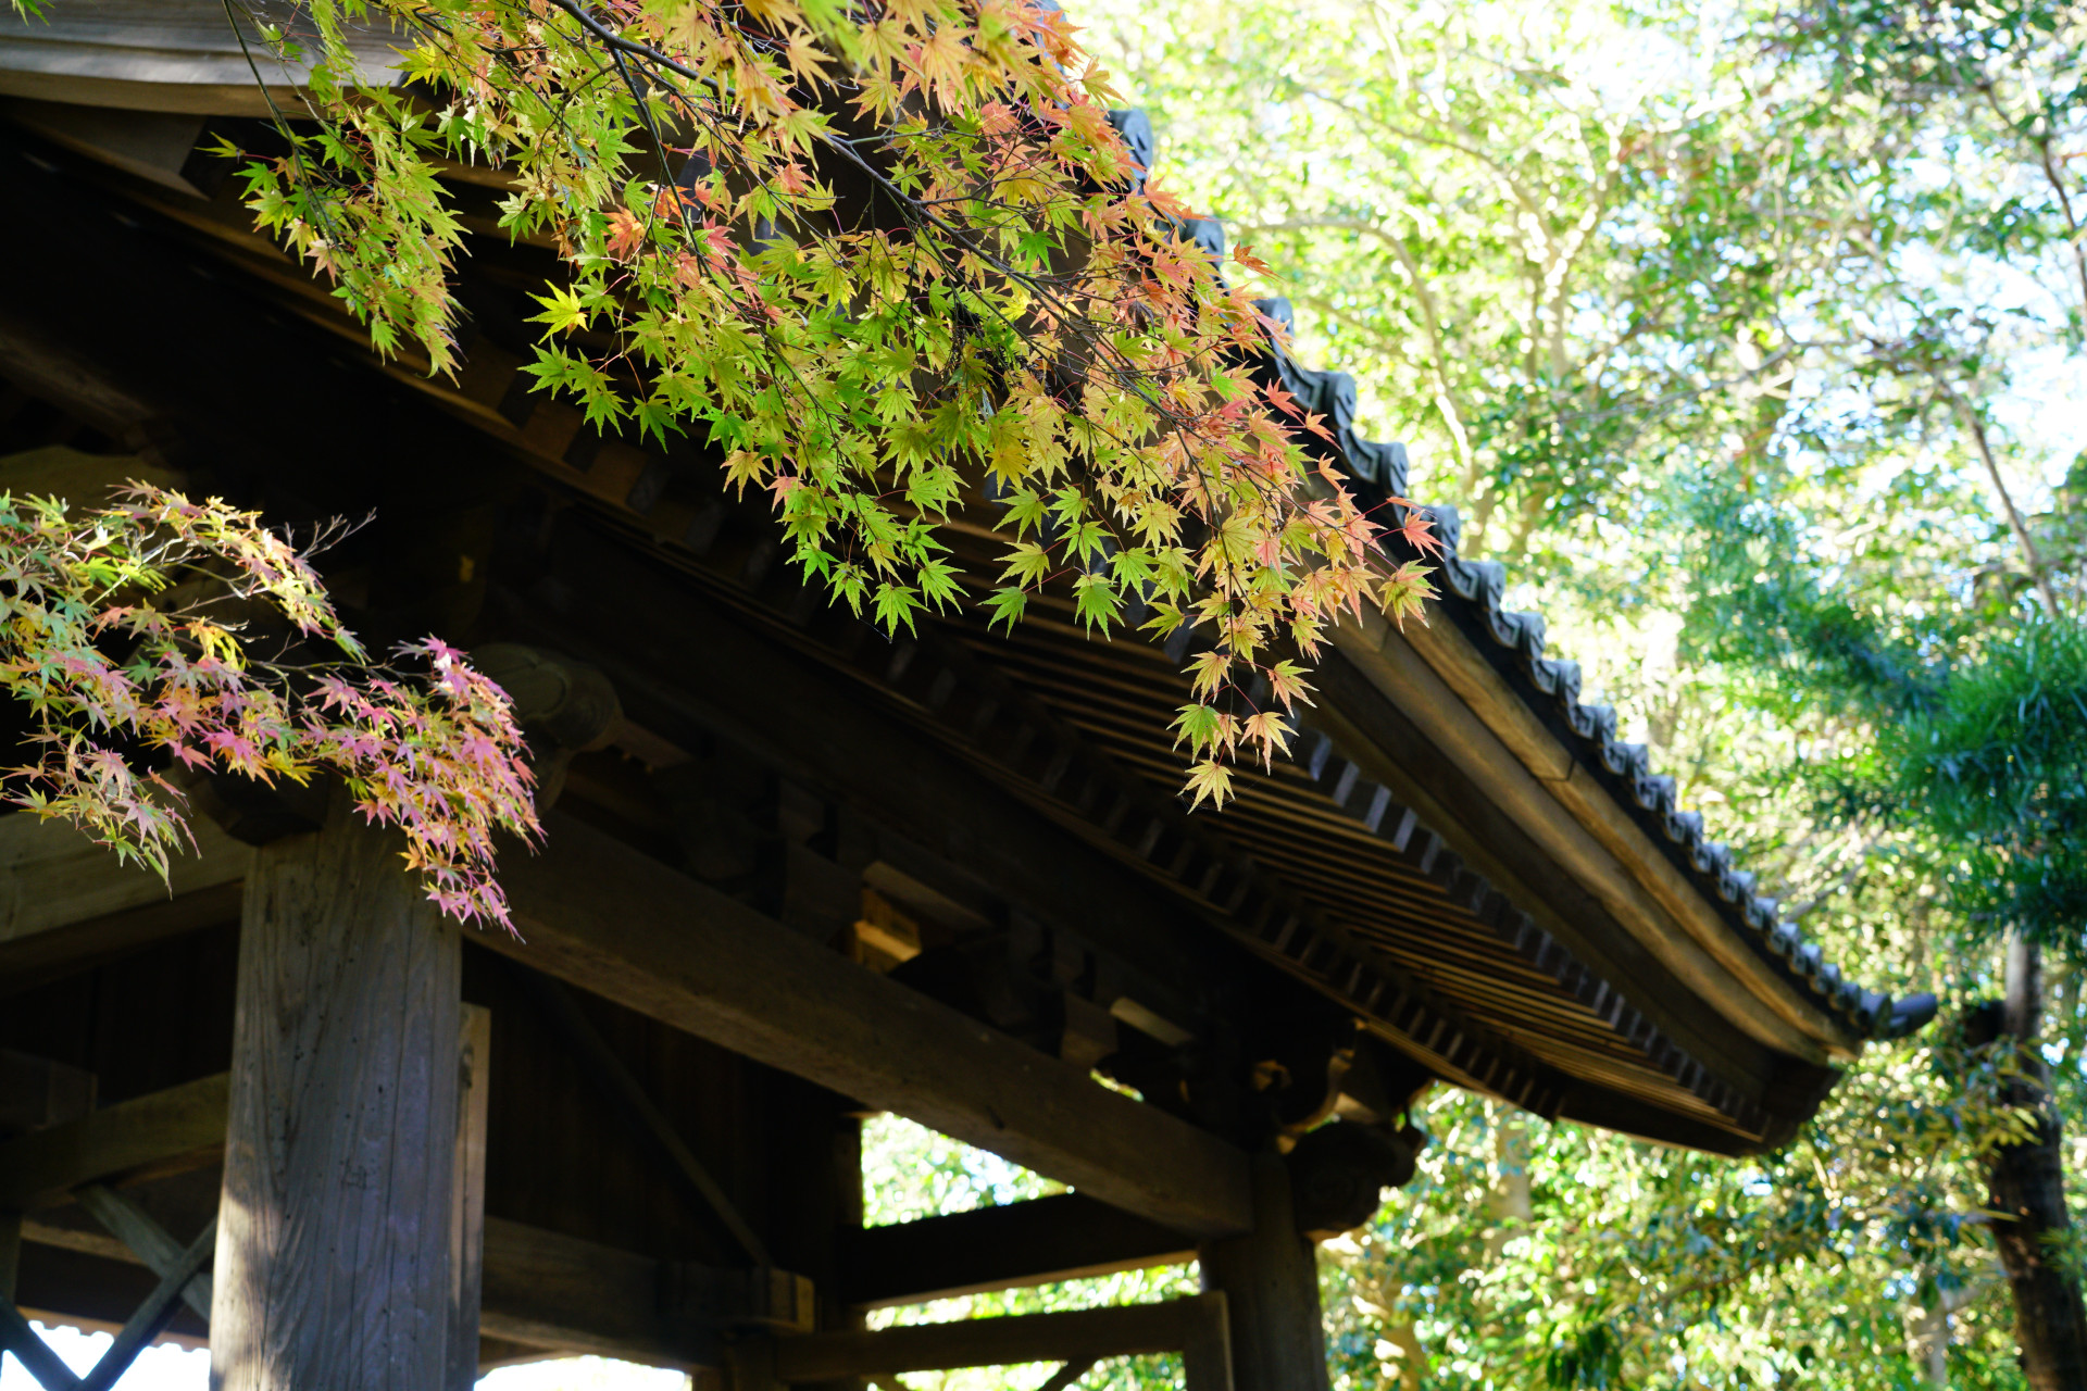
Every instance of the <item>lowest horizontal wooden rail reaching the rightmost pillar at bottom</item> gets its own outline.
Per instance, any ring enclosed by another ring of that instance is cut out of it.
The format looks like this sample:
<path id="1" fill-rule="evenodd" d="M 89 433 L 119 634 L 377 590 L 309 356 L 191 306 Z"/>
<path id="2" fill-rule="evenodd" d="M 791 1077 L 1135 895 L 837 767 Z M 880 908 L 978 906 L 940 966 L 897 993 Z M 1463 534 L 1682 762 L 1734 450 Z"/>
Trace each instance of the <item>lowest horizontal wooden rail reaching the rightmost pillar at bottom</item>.
<path id="1" fill-rule="evenodd" d="M 774 1376 L 783 1383 L 803 1383 L 962 1366 L 1131 1358 L 1190 1347 L 1204 1353 L 1213 1345 L 1213 1328 L 1221 1328 L 1223 1320 L 1225 1295 L 1210 1293 L 1064 1314 L 960 1318 L 879 1333 L 814 1333 L 776 1339 Z M 1198 1356 L 1198 1364 L 1202 1362 L 1206 1358 Z"/>

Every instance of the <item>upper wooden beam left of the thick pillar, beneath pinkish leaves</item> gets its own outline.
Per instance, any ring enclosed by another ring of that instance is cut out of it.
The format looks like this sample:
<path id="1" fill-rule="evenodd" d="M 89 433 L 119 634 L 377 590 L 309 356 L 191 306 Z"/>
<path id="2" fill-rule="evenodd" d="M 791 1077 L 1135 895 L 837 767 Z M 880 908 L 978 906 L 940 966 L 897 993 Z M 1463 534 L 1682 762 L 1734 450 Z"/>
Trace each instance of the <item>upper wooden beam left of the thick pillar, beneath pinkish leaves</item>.
<path id="1" fill-rule="evenodd" d="M 253 847 L 209 817 L 192 830 L 196 853 L 161 880 L 65 822 L 0 815 L 0 995 L 238 918 Z"/>

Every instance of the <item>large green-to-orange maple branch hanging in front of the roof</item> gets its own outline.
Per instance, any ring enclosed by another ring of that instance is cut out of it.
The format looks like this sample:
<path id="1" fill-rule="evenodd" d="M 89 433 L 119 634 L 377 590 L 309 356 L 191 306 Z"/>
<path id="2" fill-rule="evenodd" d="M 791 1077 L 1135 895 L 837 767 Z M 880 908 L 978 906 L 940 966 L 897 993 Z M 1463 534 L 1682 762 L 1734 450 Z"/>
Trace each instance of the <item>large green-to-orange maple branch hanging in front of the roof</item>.
<path id="1" fill-rule="evenodd" d="M 321 123 L 248 167 L 261 223 L 380 346 L 449 371 L 461 223 L 440 161 L 505 171 L 501 229 L 563 257 L 534 382 L 599 430 L 714 446 L 726 486 L 768 490 L 803 574 L 887 632 L 975 603 L 937 536 L 991 511 L 995 626 L 1050 588 L 1096 634 L 1146 609 L 1175 615 L 1160 634 L 1198 624 L 1219 726 L 1188 738 L 1185 790 L 1223 801 L 1242 692 L 1394 578 L 1281 419 L 1323 423 L 1250 380 L 1248 292 L 1188 240 L 1185 204 L 1129 177 L 1114 94 L 1054 6 L 376 10 L 442 108 L 351 88 L 321 6 Z M 835 217 L 843 179 L 874 188 L 870 217 Z M 1417 611 L 1415 584 L 1388 607 Z M 1246 742 L 1281 740 L 1258 722 Z"/>

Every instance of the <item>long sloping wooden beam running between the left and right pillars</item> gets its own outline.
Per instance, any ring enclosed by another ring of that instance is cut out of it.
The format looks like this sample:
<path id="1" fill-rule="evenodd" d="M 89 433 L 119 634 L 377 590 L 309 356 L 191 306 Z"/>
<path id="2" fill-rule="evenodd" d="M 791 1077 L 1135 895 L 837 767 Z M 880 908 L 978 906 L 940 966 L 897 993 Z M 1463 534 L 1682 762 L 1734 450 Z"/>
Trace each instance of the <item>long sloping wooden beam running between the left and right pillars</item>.
<path id="1" fill-rule="evenodd" d="M 1250 1226 L 1246 1155 L 570 817 L 505 855 L 484 945 L 1192 1235 Z"/>

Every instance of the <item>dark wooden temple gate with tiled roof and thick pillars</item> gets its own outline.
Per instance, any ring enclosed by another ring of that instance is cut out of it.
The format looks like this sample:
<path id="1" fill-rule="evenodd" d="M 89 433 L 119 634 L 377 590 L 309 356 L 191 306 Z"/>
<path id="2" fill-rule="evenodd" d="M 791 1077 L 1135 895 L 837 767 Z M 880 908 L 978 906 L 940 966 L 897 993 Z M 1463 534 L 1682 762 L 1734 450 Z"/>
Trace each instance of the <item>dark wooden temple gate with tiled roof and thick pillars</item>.
<path id="1" fill-rule="evenodd" d="M 0 817 L 0 1341 L 52 1391 L 29 1316 L 121 1328 L 94 1387 L 186 1337 L 227 1391 L 561 1351 L 762 1391 L 1179 1351 L 1190 1391 L 1309 1391 L 1311 1241 L 1411 1176 L 1425 1087 L 1745 1153 L 1933 1011 L 1776 920 L 1498 567 L 1346 630 L 1300 757 L 1190 815 L 1185 646 L 831 611 L 701 448 L 526 390 L 545 248 L 474 248 L 455 382 L 378 361 L 207 152 L 253 136 L 234 54 L 186 0 L 0 33 L 0 488 L 374 509 L 334 592 L 515 694 L 549 840 L 503 863 L 509 938 L 323 795 L 198 788 L 171 895 Z M 1263 371 L 1402 488 L 1352 382 Z M 874 1112 L 1073 1193 L 864 1226 Z M 864 1328 L 1190 1258 L 1192 1299 Z"/>

